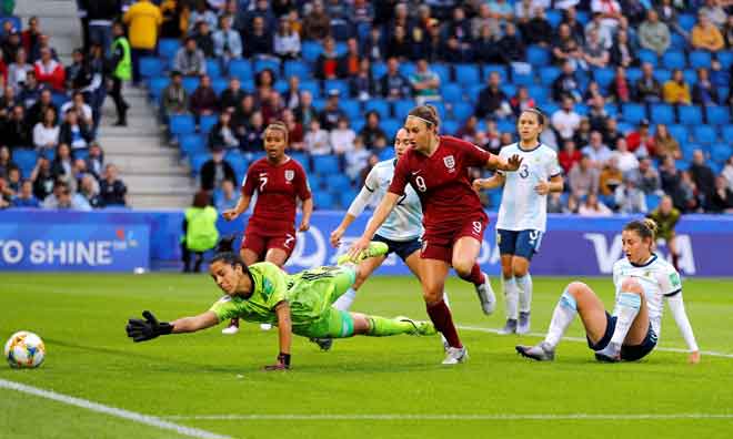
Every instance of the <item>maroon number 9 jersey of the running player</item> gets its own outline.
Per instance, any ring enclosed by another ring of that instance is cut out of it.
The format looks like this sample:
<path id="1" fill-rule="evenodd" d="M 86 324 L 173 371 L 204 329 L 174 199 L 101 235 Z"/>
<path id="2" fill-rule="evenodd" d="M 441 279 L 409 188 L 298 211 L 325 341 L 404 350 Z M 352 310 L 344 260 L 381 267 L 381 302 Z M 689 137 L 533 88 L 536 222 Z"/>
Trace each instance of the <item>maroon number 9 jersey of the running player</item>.
<path id="1" fill-rule="evenodd" d="M 441 135 L 430 157 L 409 150 L 400 159 L 389 192 L 402 195 L 410 183 L 422 203 L 425 232 L 453 229 L 469 216 L 485 216 L 471 187 L 469 167 L 483 167 L 490 157 L 489 152 L 472 143 Z"/>

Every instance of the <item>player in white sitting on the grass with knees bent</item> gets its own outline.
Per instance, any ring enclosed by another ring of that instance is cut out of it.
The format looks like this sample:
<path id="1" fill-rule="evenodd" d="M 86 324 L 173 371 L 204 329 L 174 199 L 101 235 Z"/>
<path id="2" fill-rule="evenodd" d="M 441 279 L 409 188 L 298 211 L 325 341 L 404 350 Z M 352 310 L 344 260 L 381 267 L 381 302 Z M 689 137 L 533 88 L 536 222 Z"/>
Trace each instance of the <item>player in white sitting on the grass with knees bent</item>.
<path id="1" fill-rule="evenodd" d="M 626 257 L 613 265 L 616 289 L 613 316 L 605 312 L 603 303 L 588 285 L 573 282 L 560 296 L 544 341 L 533 347 L 516 346 L 518 353 L 540 361 L 554 359 L 558 343 L 580 314 L 588 346 L 595 351 L 599 361 L 642 359 L 656 346 L 663 298 L 666 298 L 690 349 L 690 363 L 700 363 L 700 349 L 684 310 L 680 275 L 654 254 L 656 223 L 632 221 L 621 237 Z"/>

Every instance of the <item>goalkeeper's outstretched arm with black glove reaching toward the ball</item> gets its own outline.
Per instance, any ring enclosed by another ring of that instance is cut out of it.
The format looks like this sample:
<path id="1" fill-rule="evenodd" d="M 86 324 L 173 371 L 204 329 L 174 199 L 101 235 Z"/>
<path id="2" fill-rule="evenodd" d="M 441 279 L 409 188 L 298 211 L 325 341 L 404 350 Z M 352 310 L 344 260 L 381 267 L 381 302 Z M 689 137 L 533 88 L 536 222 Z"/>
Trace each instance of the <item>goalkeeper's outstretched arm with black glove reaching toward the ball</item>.
<path id="1" fill-rule="evenodd" d="M 195 317 L 179 318 L 171 323 L 158 321 L 149 310 L 142 312 L 142 317 L 143 319 L 131 318 L 125 327 L 128 337 L 132 338 L 134 343 L 152 340 L 162 335 L 194 333 L 219 324 L 219 317 L 210 310 Z"/>

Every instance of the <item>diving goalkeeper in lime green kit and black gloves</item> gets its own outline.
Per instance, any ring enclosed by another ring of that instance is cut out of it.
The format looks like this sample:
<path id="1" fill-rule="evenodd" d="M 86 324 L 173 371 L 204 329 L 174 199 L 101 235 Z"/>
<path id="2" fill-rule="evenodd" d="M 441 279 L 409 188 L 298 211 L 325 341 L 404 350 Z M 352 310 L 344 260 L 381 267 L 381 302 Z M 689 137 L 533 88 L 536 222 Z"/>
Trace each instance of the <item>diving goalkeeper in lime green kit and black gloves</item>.
<path id="1" fill-rule="evenodd" d="M 399 334 L 434 335 L 428 321 L 406 317 L 389 319 L 359 313 L 340 312 L 331 305 L 349 288 L 359 275 L 359 266 L 345 263 L 335 267 L 308 269 L 292 276 L 270 262 L 247 266 L 232 252 L 233 238 L 222 239 L 209 273 L 224 296 L 211 308 L 195 317 L 171 323 L 158 321 L 152 313 L 144 319 L 131 318 L 125 327 L 135 343 L 161 335 L 194 333 L 229 318 L 277 325 L 280 335 L 278 363 L 268 370 L 290 368 L 292 334 L 303 337 L 345 338 L 354 335 L 384 337 Z M 370 243 L 361 262 L 386 253 L 383 243 Z"/>

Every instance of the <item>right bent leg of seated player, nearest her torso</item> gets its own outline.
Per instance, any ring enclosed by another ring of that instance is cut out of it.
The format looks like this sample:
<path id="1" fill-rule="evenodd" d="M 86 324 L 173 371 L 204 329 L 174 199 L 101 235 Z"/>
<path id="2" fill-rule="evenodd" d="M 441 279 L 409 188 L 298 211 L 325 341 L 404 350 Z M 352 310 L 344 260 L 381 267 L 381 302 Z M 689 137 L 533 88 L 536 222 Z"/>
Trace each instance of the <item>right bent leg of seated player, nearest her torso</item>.
<path id="1" fill-rule="evenodd" d="M 644 289 L 635 279 L 625 279 L 615 303 L 616 320 L 610 343 L 595 353 L 601 361 L 620 361 L 622 346 L 637 346 L 649 333 L 649 310 Z"/>

